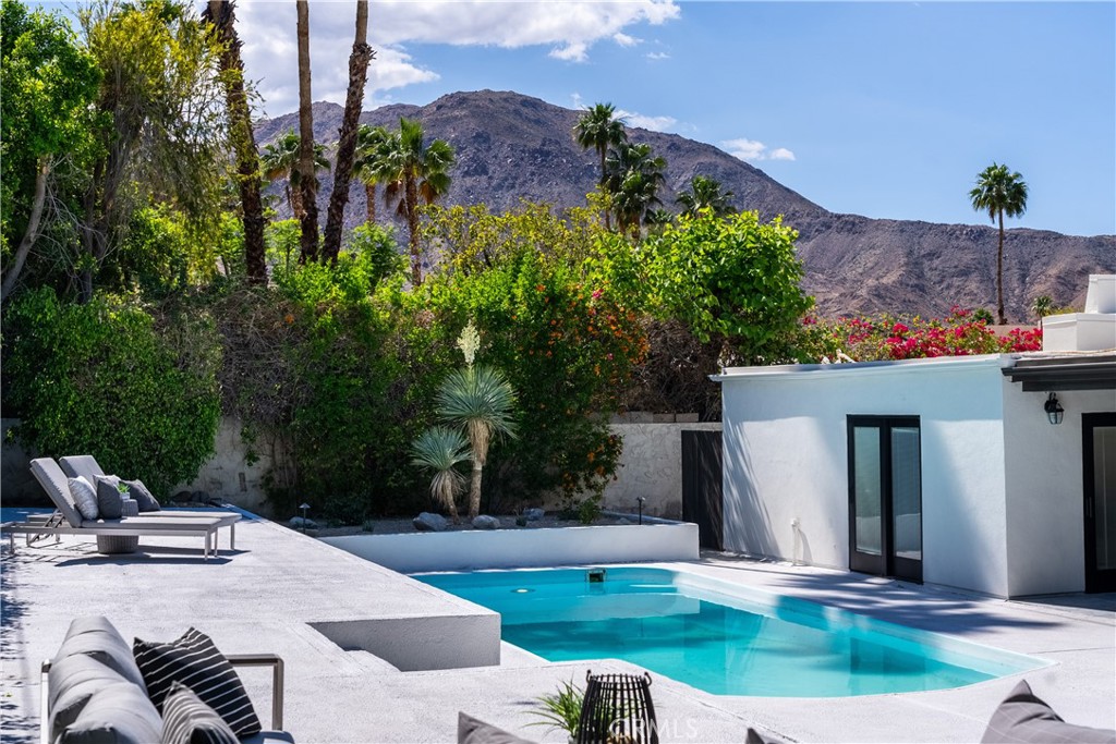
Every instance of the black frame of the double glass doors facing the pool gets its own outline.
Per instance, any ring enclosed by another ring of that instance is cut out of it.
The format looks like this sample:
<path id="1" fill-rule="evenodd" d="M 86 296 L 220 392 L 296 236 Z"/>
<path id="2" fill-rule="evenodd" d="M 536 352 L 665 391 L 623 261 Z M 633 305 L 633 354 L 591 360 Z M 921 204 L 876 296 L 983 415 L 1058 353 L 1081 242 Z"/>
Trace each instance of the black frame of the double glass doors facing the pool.
<path id="1" fill-rule="evenodd" d="M 848 429 L 848 568 L 852 571 L 887 576 L 922 583 L 922 560 L 895 554 L 894 511 L 892 494 L 892 436 L 893 427 L 918 429 L 918 544 L 922 539 L 922 422 L 918 416 L 859 416 L 847 417 Z M 853 433 L 856 427 L 872 427 L 879 432 L 879 555 L 856 550 L 856 447 Z"/>

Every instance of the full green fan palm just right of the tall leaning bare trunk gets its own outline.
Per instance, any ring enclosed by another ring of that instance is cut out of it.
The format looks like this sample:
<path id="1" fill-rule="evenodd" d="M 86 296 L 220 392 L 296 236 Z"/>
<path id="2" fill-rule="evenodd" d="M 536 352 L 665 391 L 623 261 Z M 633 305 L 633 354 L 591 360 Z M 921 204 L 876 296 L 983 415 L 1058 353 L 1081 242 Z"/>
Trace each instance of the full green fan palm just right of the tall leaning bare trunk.
<path id="1" fill-rule="evenodd" d="M 422 283 L 422 258 L 419 250 L 419 202 L 426 204 L 450 190 L 453 147 L 444 139 L 429 145 L 422 123 L 400 117 L 400 131 L 385 149 L 384 170 L 388 201 L 398 199 L 398 214 L 406 219 L 411 244 L 411 282 Z"/>

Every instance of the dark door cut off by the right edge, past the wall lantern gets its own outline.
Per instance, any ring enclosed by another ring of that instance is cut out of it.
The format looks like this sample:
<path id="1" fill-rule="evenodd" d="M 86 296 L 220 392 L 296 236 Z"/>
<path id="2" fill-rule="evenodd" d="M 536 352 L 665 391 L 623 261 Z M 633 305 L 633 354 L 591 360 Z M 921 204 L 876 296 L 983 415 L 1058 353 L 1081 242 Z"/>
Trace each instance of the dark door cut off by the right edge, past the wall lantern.
<path id="1" fill-rule="evenodd" d="M 1116 413 L 1083 414 L 1085 590 L 1116 591 Z"/>

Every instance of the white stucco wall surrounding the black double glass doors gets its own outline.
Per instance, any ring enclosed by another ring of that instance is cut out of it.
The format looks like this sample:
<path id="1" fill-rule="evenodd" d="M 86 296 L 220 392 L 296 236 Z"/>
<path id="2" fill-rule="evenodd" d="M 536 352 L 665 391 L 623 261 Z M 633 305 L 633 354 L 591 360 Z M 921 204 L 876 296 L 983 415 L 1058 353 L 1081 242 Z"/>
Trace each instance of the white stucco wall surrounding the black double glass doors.
<path id="1" fill-rule="evenodd" d="M 725 548 L 848 568 L 846 417 L 918 416 L 923 580 L 1007 596 L 1002 364 L 727 370 Z"/>

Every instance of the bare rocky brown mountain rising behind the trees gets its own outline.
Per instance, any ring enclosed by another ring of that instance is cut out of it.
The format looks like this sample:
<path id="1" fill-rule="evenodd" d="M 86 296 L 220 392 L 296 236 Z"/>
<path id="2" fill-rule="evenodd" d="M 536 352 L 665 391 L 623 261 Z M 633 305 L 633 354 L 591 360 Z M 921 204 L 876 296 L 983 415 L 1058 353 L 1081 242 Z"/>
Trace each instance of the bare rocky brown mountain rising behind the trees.
<path id="1" fill-rule="evenodd" d="M 580 115 L 517 93 L 480 90 L 454 93 L 427 106 L 384 106 L 365 112 L 360 122 L 394 128 L 401 116 L 421 119 L 429 137 L 448 141 L 458 154 L 445 203 L 485 203 L 502 211 L 521 199 L 559 207 L 585 203 L 599 177 L 599 162 L 570 134 Z M 340 122 L 340 106 L 314 105 L 318 142 L 336 142 Z M 267 144 L 287 129 L 298 129 L 297 113 L 258 123 L 257 141 Z M 712 145 L 637 127 L 629 128 L 628 136 L 666 158 L 667 207 L 692 176 L 704 175 L 732 191 L 735 206 L 758 210 L 764 220 L 782 214 L 785 223 L 799 231 L 804 288 L 815 296 L 821 315 L 888 310 L 941 316 L 953 305 L 995 308 L 998 231 L 990 225 L 837 214 Z M 333 177 L 319 178 L 324 220 Z M 281 193 L 281 184 L 272 184 L 271 191 Z M 385 212 L 382 205 L 377 209 Z M 280 213 L 289 216 L 286 204 Z M 356 183 L 346 211 L 348 226 L 364 214 L 365 193 Z M 1028 319 L 1030 303 L 1042 294 L 1055 305 L 1080 309 L 1090 273 L 1116 273 L 1116 236 L 1007 231 L 1003 292 L 1009 319 Z"/>

